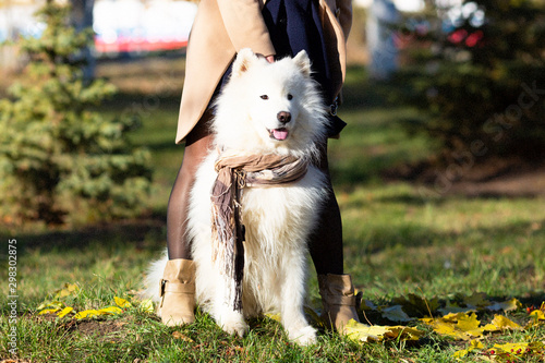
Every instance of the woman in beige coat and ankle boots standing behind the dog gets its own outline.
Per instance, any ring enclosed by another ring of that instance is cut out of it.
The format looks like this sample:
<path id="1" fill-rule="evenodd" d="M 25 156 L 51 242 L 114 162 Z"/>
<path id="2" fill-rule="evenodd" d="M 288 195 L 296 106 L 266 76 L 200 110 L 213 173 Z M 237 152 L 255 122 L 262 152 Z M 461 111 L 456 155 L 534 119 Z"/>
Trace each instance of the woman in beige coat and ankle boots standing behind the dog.
<path id="1" fill-rule="evenodd" d="M 331 105 L 329 136 L 343 122 L 335 117 L 336 99 L 346 72 L 346 37 L 350 32 L 350 0 L 202 0 L 187 46 L 185 81 L 178 121 L 177 143 L 185 141 L 182 167 L 169 199 L 167 242 L 169 262 L 161 280 L 161 317 L 168 325 L 194 322 L 195 267 L 185 240 L 189 194 L 195 171 L 211 145 L 207 121 L 210 100 L 229 75 L 237 52 L 251 48 L 269 62 L 305 49 L 313 61 L 325 106 Z M 320 168 L 328 172 L 327 140 L 323 141 Z M 329 181 L 330 184 L 330 181 Z M 324 318 L 342 331 L 350 318 L 358 320 L 350 276 L 342 271 L 342 227 L 339 207 L 329 197 L 310 252 L 318 274 Z"/>

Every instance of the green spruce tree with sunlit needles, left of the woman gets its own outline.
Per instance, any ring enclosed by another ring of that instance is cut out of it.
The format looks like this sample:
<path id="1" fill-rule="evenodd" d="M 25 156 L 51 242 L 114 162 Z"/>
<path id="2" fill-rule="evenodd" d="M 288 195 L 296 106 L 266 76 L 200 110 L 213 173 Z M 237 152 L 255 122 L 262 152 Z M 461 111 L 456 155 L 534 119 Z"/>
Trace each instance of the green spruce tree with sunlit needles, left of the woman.
<path id="1" fill-rule="evenodd" d="M 0 213 L 4 220 L 106 219 L 141 211 L 150 186 L 149 154 L 134 148 L 132 119 L 93 109 L 114 94 L 83 76 L 92 32 L 69 25 L 70 9 L 46 4 L 47 28 L 21 39 L 28 64 L 0 100 Z"/>

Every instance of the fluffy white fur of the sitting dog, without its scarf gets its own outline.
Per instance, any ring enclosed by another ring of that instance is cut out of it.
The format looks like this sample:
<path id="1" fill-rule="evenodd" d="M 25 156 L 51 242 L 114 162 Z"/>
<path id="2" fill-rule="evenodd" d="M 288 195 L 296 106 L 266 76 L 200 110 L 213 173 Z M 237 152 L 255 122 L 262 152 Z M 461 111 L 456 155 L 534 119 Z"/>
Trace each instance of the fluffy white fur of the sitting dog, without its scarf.
<path id="1" fill-rule="evenodd" d="M 303 302 L 306 242 L 326 194 L 325 174 L 311 165 L 298 182 L 244 189 L 242 313 L 233 310 L 229 294 L 232 281 L 222 273 L 222 265 L 213 262 L 210 191 L 217 177 L 214 169 L 217 149 L 293 155 L 316 161 L 316 143 L 325 140 L 324 109 L 305 52 L 275 63 L 249 49 L 239 52 L 230 81 L 216 102 L 211 123 L 216 145 L 196 173 L 189 211 L 197 301 L 227 332 L 242 336 L 249 328 L 244 317 L 280 313 L 290 340 L 300 344 L 316 340 L 315 329 L 304 317 Z M 280 111 L 289 112 L 291 121 L 282 124 L 277 118 Z M 287 131 L 288 137 L 280 141 L 271 137 L 275 129 Z M 152 266 L 148 276 L 152 289 L 158 290 L 155 287 L 165 264 L 166 257 Z"/>

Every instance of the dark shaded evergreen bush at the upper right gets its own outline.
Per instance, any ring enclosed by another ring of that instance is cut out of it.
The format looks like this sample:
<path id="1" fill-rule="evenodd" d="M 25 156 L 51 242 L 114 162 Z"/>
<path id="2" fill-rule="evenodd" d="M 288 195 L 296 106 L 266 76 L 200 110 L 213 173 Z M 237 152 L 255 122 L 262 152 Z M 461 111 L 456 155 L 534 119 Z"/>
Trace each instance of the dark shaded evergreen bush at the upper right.
<path id="1" fill-rule="evenodd" d="M 408 123 L 443 147 L 446 162 L 541 159 L 545 152 L 545 5 L 529 0 L 463 1 L 433 8 L 415 64 L 400 76 L 428 111 Z M 437 16 L 437 14 L 439 14 Z M 484 15 L 484 17 L 483 17 Z"/>

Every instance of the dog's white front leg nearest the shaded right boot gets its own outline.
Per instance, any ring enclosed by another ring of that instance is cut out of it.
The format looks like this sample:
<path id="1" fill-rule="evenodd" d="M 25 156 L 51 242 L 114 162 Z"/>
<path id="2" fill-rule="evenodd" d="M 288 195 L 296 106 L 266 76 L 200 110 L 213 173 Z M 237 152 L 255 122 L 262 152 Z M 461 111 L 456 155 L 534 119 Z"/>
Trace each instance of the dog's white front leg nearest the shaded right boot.
<path id="1" fill-rule="evenodd" d="M 304 316 L 303 303 L 305 294 L 304 256 L 294 253 L 282 262 L 284 269 L 281 283 L 281 318 L 288 338 L 300 346 L 316 342 L 316 329 L 308 325 Z"/>

